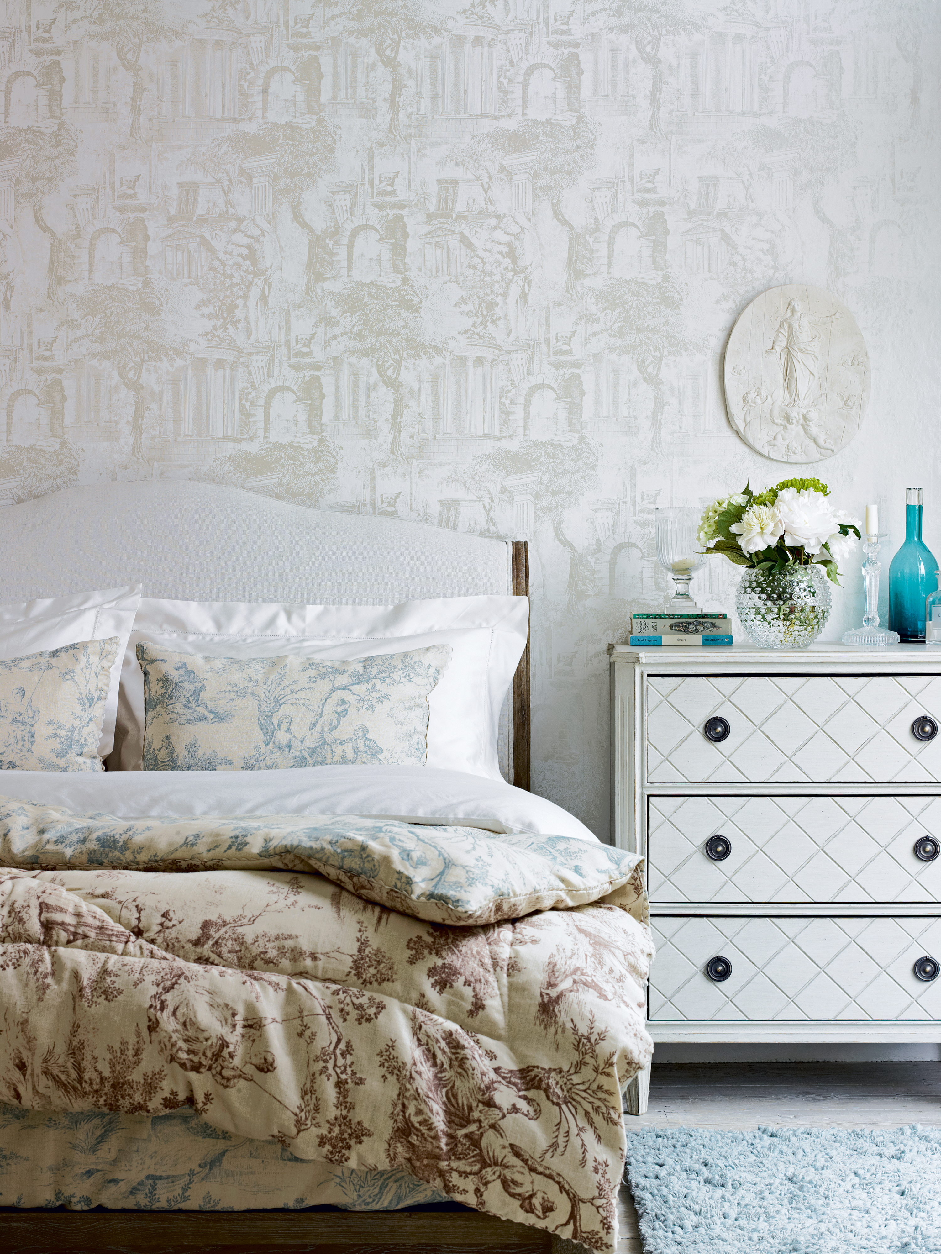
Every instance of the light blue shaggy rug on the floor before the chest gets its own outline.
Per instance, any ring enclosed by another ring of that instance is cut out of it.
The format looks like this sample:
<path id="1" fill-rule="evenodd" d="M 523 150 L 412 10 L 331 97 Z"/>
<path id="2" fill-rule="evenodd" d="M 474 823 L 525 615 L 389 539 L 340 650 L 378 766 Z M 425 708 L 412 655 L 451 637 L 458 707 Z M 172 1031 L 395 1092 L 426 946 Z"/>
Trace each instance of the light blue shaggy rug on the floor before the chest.
<path id="1" fill-rule="evenodd" d="M 645 1254 L 941 1251 L 941 1127 L 647 1127 L 626 1179 Z"/>

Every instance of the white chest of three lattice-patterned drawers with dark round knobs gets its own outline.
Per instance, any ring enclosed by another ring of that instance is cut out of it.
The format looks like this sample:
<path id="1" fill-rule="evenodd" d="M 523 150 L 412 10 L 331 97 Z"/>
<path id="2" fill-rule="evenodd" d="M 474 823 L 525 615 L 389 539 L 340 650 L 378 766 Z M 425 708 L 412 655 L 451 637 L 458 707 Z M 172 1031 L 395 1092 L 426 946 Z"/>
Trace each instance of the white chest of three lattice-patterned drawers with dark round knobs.
<path id="1" fill-rule="evenodd" d="M 611 696 L 654 1040 L 941 1041 L 941 650 L 615 646 Z"/>

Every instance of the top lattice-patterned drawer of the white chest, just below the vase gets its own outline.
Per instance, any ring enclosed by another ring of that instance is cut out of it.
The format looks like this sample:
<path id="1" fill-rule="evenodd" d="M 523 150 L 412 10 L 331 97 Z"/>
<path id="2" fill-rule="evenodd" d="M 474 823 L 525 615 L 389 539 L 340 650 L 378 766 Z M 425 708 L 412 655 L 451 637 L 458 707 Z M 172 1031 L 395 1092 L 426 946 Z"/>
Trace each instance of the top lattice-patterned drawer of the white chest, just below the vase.
<path id="1" fill-rule="evenodd" d="M 912 730 L 941 726 L 941 675 L 651 675 L 646 697 L 651 784 L 941 780 L 941 734 Z M 723 740 L 706 737 L 714 716 Z"/>

